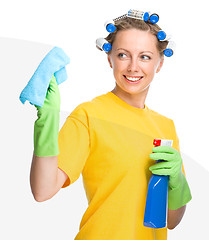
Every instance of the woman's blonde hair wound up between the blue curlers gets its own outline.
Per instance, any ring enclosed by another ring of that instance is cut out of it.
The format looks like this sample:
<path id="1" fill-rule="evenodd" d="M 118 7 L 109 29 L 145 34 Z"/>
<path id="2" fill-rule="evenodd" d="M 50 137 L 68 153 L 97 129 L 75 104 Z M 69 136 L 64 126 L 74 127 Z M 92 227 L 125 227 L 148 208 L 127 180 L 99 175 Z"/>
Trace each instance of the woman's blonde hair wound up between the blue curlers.
<path id="1" fill-rule="evenodd" d="M 115 37 L 119 31 L 127 30 L 127 29 L 139 29 L 141 31 L 148 31 L 156 36 L 157 39 L 157 49 L 160 53 L 160 56 L 163 56 L 163 51 L 166 49 L 168 45 L 168 41 L 159 41 L 157 38 L 157 34 L 162 29 L 157 24 L 152 24 L 149 22 L 145 22 L 143 20 L 125 17 L 115 22 L 116 31 L 110 33 L 105 39 L 112 45 L 115 41 Z M 111 50 L 107 53 L 110 54 Z"/>

